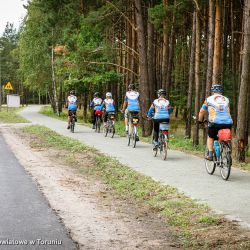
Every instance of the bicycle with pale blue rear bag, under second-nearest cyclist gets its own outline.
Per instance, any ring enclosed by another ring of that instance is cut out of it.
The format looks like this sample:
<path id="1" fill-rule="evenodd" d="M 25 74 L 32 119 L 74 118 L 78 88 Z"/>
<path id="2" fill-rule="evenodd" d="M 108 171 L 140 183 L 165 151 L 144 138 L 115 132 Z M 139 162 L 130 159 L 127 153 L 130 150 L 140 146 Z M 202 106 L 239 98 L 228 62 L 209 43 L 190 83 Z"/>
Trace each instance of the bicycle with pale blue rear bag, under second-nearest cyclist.
<path id="1" fill-rule="evenodd" d="M 168 122 L 162 122 L 160 123 L 160 129 L 159 129 L 159 137 L 158 137 L 158 144 L 155 147 L 153 146 L 153 156 L 156 157 L 158 151 L 160 151 L 161 158 L 165 161 L 167 159 L 167 150 L 168 150 L 168 143 L 169 143 L 169 123 Z M 152 143 L 154 142 L 154 136 L 152 137 Z"/>

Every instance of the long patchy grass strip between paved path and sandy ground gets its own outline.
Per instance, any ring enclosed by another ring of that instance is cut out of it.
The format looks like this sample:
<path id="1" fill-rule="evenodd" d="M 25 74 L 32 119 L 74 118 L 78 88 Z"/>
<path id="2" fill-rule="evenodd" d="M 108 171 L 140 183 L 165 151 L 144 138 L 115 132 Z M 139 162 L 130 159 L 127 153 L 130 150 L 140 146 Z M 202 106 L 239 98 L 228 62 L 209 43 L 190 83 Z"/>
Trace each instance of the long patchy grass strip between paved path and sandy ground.
<path id="1" fill-rule="evenodd" d="M 123 199 L 133 199 L 148 206 L 166 221 L 176 245 L 192 249 L 250 248 L 249 232 L 212 213 L 206 205 L 193 201 L 175 188 L 162 185 L 77 140 L 60 136 L 45 127 L 27 126 L 21 130 L 32 136 L 33 147 L 67 150 L 65 160 L 74 162 L 80 173 L 101 179 Z M 88 154 L 93 161 L 88 171 L 81 169 L 81 161 L 77 161 L 83 154 Z"/>

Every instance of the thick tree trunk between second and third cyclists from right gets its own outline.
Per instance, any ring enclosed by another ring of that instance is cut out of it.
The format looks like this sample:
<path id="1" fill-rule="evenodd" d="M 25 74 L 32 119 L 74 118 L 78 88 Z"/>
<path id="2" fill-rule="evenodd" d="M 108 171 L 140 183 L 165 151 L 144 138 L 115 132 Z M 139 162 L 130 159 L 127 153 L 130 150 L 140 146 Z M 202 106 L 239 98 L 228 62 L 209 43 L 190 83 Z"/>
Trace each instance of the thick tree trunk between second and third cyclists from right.
<path id="1" fill-rule="evenodd" d="M 148 61 L 146 48 L 146 35 L 144 30 L 144 22 L 142 16 L 141 0 L 135 0 L 136 21 L 138 34 L 138 51 L 139 51 L 139 66 L 140 66 L 140 95 L 141 95 L 141 114 L 142 114 L 142 134 L 149 136 L 151 134 L 151 122 L 145 119 L 147 109 L 150 106 L 150 93 L 148 81 Z"/>

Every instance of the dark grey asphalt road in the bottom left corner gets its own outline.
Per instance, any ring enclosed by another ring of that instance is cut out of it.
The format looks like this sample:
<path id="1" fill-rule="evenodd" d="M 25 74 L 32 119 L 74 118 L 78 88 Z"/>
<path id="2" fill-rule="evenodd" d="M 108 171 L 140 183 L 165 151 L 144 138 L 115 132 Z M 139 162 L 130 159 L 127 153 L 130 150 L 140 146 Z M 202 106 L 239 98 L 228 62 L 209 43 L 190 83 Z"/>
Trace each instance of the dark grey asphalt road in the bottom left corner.
<path id="1" fill-rule="evenodd" d="M 0 134 L 0 250 L 76 249 Z"/>

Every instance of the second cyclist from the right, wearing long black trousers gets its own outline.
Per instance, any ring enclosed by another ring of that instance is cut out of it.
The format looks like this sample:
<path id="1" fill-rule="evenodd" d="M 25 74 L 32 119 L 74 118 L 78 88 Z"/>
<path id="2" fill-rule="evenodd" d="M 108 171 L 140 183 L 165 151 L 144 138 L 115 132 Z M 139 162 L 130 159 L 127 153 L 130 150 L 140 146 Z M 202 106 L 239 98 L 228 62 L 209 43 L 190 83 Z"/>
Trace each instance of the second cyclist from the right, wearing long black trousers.
<path id="1" fill-rule="evenodd" d="M 173 111 L 170 106 L 169 100 L 166 99 L 166 90 L 159 89 L 157 91 L 157 95 L 158 98 L 153 101 L 147 113 L 147 117 L 153 117 L 154 122 L 154 149 L 156 149 L 158 146 L 160 123 L 169 123 L 170 114 Z"/>

